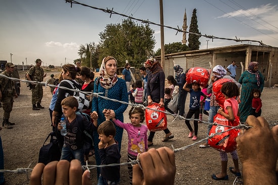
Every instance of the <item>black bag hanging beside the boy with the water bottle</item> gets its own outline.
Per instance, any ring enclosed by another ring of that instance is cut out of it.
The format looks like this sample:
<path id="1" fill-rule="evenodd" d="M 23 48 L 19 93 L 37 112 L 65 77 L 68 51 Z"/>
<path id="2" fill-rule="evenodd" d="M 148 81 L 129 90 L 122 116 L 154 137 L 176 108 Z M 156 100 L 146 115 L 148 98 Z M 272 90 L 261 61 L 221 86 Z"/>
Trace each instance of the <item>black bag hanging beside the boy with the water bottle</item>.
<path id="1" fill-rule="evenodd" d="M 50 137 L 50 143 L 45 145 Z M 42 147 L 39 149 L 38 163 L 47 165 L 51 161 L 59 161 L 61 158 L 61 150 L 55 132 L 51 132 L 47 139 L 43 142 Z"/>

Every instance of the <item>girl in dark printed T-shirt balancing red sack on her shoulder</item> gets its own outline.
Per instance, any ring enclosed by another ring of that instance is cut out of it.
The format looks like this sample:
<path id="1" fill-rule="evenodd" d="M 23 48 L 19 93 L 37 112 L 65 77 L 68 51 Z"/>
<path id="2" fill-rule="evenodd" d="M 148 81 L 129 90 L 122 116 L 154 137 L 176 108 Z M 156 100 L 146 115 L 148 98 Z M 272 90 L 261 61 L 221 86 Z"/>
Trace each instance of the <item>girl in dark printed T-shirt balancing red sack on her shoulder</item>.
<path id="1" fill-rule="evenodd" d="M 197 135 L 198 135 L 198 120 L 194 120 L 194 131 L 193 131 L 188 119 L 190 119 L 193 116 L 193 114 L 194 114 L 194 119 L 199 118 L 200 103 L 204 102 L 204 100 L 207 98 L 207 95 L 205 95 L 201 91 L 200 84 L 193 82 L 192 89 L 189 89 L 187 87 L 187 85 L 188 85 L 188 83 L 186 82 L 183 86 L 183 89 L 190 93 L 190 104 L 189 104 L 189 111 L 188 111 L 187 117 L 186 117 L 187 118 L 186 124 L 190 130 L 188 137 L 192 138 L 191 139 L 192 141 L 195 141 L 195 140 L 197 140 Z M 201 96 L 204 96 L 204 99 L 200 102 Z"/>

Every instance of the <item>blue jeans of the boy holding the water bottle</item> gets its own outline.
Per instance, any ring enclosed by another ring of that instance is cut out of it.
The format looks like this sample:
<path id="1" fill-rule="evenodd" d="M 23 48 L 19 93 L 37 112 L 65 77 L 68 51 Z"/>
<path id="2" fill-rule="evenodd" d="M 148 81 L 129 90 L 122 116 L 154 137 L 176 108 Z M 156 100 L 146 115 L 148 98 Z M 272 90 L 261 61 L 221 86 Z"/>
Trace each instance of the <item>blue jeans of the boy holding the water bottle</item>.
<path id="1" fill-rule="evenodd" d="M 65 159 L 71 161 L 72 157 L 73 159 L 78 159 L 81 165 L 85 165 L 83 148 L 72 150 L 64 145 L 62 148 L 61 160 Z"/>

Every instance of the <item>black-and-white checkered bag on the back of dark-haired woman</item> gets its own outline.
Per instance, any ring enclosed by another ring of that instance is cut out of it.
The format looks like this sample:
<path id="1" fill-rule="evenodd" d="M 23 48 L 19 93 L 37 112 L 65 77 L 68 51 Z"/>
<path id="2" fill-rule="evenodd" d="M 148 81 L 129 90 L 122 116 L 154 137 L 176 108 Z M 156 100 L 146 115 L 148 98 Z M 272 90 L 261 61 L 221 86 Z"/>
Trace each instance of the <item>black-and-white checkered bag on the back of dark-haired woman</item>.
<path id="1" fill-rule="evenodd" d="M 69 83 L 71 85 L 71 88 L 72 89 L 78 89 L 73 82 L 71 82 L 70 80 L 63 80 L 63 81 L 66 81 L 67 83 Z M 65 94 L 66 97 L 67 96 L 70 96 L 69 93 L 66 93 Z M 77 92 L 77 91 L 74 91 L 73 92 L 73 96 L 77 99 L 78 101 L 78 107 L 77 107 L 77 112 L 83 112 L 85 111 L 89 105 L 90 105 L 90 100 L 86 97 L 86 95 L 82 92 Z"/>

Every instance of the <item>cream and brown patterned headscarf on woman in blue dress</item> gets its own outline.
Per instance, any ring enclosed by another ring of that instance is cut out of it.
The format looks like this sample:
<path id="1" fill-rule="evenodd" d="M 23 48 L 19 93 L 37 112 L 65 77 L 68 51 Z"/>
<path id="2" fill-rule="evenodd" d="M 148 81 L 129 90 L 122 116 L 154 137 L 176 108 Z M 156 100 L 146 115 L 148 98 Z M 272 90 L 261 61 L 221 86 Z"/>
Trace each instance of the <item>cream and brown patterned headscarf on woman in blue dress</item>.
<path id="1" fill-rule="evenodd" d="M 118 81 L 118 77 L 117 77 L 116 72 L 113 76 L 108 75 L 107 72 L 106 72 L 105 63 L 110 59 L 114 59 L 116 61 L 116 64 L 117 64 L 117 60 L 113 56 L 106 56 L 106 57 L 103 58 L 102 65 L 101 65 L 101 68 L 100 68 L 100 84 L 105 89 L 110 89 Z"/>

